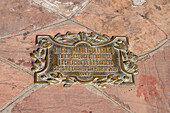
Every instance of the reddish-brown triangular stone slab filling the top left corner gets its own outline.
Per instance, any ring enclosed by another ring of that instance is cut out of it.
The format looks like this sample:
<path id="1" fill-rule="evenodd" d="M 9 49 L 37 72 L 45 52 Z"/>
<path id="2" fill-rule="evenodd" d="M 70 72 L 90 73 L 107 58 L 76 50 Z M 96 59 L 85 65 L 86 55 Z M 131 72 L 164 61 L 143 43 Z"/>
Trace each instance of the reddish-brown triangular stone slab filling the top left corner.
<path id="1" fill-rule="evenodd" d="M 1 0 L 0 14 L 0 36 L 30 31 L 61 19 L 32 0 Z"/>

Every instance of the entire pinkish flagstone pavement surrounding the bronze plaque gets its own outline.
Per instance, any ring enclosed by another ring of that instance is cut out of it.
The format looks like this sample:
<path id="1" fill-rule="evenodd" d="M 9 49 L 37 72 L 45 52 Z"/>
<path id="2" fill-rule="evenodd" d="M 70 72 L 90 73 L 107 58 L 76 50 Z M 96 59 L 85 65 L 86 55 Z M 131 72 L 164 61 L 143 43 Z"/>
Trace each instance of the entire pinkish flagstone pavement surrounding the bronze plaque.
<path id="1" fill-rule="evenodd" d="M 1 0 L 0 113 L 170 112 L 169 6 L 169 0 Z M 127 36 L 139 56 L 135 86 L 34 85 L 35 36 L 67 31 Z"/>

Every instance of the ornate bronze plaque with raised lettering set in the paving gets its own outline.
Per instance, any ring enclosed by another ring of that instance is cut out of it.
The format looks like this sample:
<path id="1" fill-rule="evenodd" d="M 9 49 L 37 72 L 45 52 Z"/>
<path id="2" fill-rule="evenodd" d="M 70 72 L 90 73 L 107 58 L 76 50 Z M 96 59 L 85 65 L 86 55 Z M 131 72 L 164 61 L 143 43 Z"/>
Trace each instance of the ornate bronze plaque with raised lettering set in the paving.
<path id="1" fill-rule="evenodd" d="M 34 82 L 74 83 L 105 87 L 134 84 L 137 56 L 128 51 L 128 38 L 95 33 L 37 35 L 36 51 L 31 53 Z"/>

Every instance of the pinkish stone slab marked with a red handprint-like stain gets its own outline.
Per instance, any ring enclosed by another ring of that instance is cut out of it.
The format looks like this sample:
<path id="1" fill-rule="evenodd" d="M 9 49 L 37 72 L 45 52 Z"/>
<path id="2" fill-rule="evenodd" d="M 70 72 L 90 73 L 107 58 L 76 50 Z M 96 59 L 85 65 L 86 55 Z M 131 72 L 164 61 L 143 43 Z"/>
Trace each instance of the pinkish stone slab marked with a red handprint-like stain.
<path id="1" fill-rule="evenodd" d="M 104 89 L 111 97 L 136 113 L 168 113 L 170 110 L 170 46 L 138 61 L 139 74 L 134 87 Z"/>

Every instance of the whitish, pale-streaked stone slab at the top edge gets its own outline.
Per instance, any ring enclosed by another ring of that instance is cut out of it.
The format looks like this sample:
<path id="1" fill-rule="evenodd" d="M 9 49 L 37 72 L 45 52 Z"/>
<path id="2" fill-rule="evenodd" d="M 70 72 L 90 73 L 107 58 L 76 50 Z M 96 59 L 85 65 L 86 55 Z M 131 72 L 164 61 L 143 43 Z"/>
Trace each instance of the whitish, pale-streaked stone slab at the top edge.
<path id="1" fill-rule="evenodd" d="M 50 12 L 71 16 L 87 3 L 86 0 L 33 0 Z"/>

